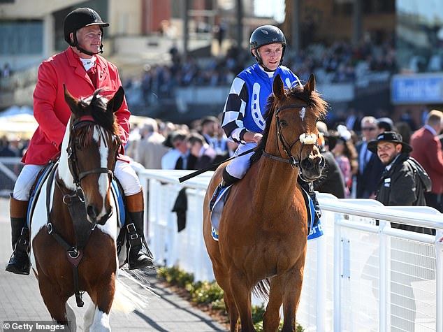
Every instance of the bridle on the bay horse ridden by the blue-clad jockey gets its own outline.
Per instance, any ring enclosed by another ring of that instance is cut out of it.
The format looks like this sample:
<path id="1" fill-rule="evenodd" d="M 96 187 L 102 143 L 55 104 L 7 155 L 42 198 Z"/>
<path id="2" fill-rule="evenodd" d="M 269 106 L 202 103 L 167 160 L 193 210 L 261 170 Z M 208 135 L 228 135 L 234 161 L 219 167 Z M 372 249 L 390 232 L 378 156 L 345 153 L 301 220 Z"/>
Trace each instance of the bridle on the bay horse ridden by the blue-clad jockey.
<path id="1" fill-rule="evenodd" d="M 284 159 L 284 158 L 280 158 L 280 157 L 276 157 L 273 156 L 272 154 L 268 154 L 263 150 L 263 156 L 264 157 L 268 157 L 270 159 L 274 159 L 277 161 L 283 161 L 285 163 L 288 163 L 291 165 L 292 168 L 296 168 L 300 165 L 301 162 L 301 153 L 303 151 L 303 147 L 305 145 L 311 145 L 314 144 L 315 146 L 319 147 L 319 143 L 317 143 L 317 140 L 314 143 L 305 143 L 305 140 L 303 140 L 301 142 L 301 147 L 300 147 L 300 152 L 298 153 L 298 160 L 293 157 L 293 155 L 291 154 L 291 150 L 293 145 L 295 145 L 298 141 L 300 141 L 300 137 L 303 136 L 303 134 L 298 137 L 296 140 L 293 141 L 293 143 L 289 143 L 288 140 L 286 140 L 286 138 L 284 138 L 283 132 L 282 132 L 282 123 L 280 122 L 280 118 L 279 118 L 279 112 L 281 110 L 285 110 L 286 108 L 310 108 L 311 106 L 307 105 L 306 103 L 304 104 L 296 104 L 296 103 L 291 103 L 289 105 L 284 105 L 280 108 L 277 108 L 277 110 L 275 111 L 275 121 L 277 122 L 277 130 L 275 131 L 275 140 L 277 140 L 277 147 L 278 147 L 278 143 L 280 142 L 282 144 L 284 153 L 286 154 L 286 156 L 289 159 Z M 307 133 L 305 133 L 305 137 L 307 137 Z M 300 169 L 298 170 L 298 172 L 300 173 Z"/>

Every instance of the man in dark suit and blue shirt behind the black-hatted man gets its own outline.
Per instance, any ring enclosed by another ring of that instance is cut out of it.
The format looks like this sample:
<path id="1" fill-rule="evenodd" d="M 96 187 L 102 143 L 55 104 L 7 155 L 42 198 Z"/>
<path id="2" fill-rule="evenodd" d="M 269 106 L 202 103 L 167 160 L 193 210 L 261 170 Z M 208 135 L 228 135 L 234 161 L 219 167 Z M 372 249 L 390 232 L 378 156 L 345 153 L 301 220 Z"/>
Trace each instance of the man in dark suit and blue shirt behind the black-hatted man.
<path id="1" fill-rule="evenodd" d="M 361 132 L 363 139 L 356 145 L 358 153 L 358 174 L 357 174 L 357 199 L 373 199 L 377 190 L 382 172 L 382 161 L 377 154 L 368 150 L 368 143 L 375 140 L 378 134 L 377 120 L 375 117 L 367 116 L 361 120 Z"/>

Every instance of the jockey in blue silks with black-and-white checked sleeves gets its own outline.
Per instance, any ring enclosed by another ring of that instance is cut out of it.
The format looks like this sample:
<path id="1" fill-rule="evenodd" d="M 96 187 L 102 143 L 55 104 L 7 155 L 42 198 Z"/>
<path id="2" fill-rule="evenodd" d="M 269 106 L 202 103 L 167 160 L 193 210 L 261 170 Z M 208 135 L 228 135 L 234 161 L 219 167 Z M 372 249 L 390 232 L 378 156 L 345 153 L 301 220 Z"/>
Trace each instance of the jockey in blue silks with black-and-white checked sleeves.
<path id="1" fill-rule="evenodd" d="M 289 68 L 282 66 L 286 38 L 279 28 L 273 25 L 258 27 L 252 32 L 249 45 L 257 63 L 245 68 L 234 78 L 223 110 L 222 128 L 229 139 L 239 143 L 235 156 L 256 147 L 263 137 L 262 132 L 266 127 L 263 114 L 268 96 L 273 92 L 275 76 L 280 75 L 285 87 L 301 85 L 297 76 Z M 223 181 L 215 189 L 210 201 L 211 210 L 221 190 L 245 176 L 252 154 L 254 152 L 236 157 L 226 166 Z M 312 184 L 300 178 L 298 182 L 314 203 L 316 224 L 321 211 Z"/>

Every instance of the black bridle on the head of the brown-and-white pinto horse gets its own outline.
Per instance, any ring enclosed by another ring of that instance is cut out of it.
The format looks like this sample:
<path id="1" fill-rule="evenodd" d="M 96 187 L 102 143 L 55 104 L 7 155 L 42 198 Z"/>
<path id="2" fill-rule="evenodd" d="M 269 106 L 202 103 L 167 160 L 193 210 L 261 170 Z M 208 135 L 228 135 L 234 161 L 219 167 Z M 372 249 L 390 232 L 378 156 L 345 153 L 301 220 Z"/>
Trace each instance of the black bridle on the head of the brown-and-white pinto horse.
<path id="1" fill-rule="evenodd" d="M 82 188 L 80 187 L 80 181 L 83 178 L 87 177 L 87 175 L 97 174 L 97 173 L 107 173 L 108 176 L 110 177 L 110 179 L 112 179 L 112 177 L 114 175 L 114 173 L 109 168 L 104 168 L 104 167 L 92 168 L 87 171 L 78 170 L 78 167 L 76 166 L 77 155 L 75 154 L 76 139 L 74 139 L 73 133 L 75 132 L 76 129 L 78 129 L 78 127 L 80 127 L 80 124 L 83 124 L 85 122 L 92 122 L 94 124 L 96 123 L 96 121 L 94 120 L 94 117 L 92 117 L 90 115 L 86 115 L 86 116 L 80 117 L 79 119 L 75 119 L 72 126 L 71 126 L 71 132 L 69 134 L 70 139 L 69 139 L 69 145 L 68 145 L 68 165 L 69 165 L 69 168 L 71 169 L 71 174 L 73 175 L 75 187 L 77 187 L 76 192 L 82 192 Z M 115 136 L 115 138 L 117 139 L 117 145 L 118 145 L 117 150 L 116 150 L 116 154 L 115 154 L 115 157 L 117 158 L 117 154 L 119 152 L 119 147 L 121 145 L 121 141 L 119 140 L 119 136 Z"/>

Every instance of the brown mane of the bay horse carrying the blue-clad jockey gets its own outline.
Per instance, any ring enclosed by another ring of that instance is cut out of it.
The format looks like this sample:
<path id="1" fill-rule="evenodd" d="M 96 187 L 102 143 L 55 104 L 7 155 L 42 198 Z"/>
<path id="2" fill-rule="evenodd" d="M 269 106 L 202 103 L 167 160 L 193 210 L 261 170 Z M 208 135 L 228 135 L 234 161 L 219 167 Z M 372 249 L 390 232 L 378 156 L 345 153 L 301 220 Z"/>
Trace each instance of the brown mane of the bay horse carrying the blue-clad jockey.
<path id="1" fill-rule="evenodd" d="M 326 116 L 326 108 L 328 107 L 328 103 L 324 99 L 321 99 L 321 94 L 319 94 L 318 92 L 313 91 L 311 94 L 307 94 L 302 85 L 295 85 L 286 89 L 285 94 L 286 96 L 292 96 L 294 98 L 305 101 L 305 103 L 310 106 L 318 120 L 322 120 Z M 270 129 L 270 121 L 268 121 L 268 119 L 272 119 L 276 110 L 276 106 L 277 101 L 275 99 L 275 96 L 274 94 L 270 94 L 266 103 L 265 114 L 263 115 L 263 118 L 266 122 L 266 127 L 263 130 L 263 138 L 256 146 L 255 153 L 251 157 L 252 162 L 259 160 L 261 154 L 263 154 L 263 150 L 265 150 Z"/>

